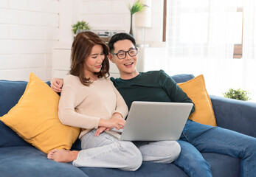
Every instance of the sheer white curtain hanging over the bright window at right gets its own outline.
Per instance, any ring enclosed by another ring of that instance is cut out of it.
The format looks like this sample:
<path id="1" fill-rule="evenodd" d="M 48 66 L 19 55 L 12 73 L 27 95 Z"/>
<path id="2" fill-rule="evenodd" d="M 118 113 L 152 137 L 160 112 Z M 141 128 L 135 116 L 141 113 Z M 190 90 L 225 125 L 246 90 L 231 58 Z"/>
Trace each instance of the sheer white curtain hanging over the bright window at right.
<path id="1" fill-rule="evenodd" d="M 255 0 L 167 1 L 168 74 L 204 74 L 209 94 L 222 96 L 229 88 L 253 94 L 256 86 L 248 76 L 256 76 L 255 20 Z M 234 44 L 241 44 L 242 34 L 247 48 L 243 58 L 234 59 Z"/>

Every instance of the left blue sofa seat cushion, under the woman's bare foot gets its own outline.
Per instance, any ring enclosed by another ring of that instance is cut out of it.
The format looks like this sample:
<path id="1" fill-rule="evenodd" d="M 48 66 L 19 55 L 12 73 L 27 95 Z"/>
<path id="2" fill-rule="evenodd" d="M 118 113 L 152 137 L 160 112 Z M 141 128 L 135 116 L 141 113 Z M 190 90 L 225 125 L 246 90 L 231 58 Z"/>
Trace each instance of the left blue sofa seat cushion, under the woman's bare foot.
<path id="1" fill-rule="evenodd" d="M 29 146 L 1 147 L 0 164 L 0 174 L 4 177 L 86 177 L 85 173 L 72 164 L 49 160 L 45 153 Z"/>

